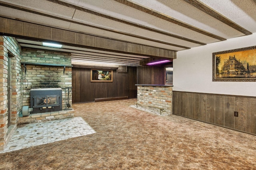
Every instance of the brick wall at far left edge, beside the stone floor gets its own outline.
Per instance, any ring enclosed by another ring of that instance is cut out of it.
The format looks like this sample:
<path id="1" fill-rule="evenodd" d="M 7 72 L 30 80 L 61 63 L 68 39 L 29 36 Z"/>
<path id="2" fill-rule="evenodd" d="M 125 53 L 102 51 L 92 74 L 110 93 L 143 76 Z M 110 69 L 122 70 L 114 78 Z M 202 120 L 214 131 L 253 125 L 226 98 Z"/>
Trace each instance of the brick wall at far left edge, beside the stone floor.
<path id="1" fill-rule="evenodd" d="M 10 107 L 8 110 L 8 60 L 11 61 L 10 76 Z M 0 36 L 0 150 L 14 133 L 18 125 L 18 115 L 22 110 L 21 89 L 21 47 L 13 37 Z M 8 127 L 8 112 L 10 112 L 10 126 Z"/>

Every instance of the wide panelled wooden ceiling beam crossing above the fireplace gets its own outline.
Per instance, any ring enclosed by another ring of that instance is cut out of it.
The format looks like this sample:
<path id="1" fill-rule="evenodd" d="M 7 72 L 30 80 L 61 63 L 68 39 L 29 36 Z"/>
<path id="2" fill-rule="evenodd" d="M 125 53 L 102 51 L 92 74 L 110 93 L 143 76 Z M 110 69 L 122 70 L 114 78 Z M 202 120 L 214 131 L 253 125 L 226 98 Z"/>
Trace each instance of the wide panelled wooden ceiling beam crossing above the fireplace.
<path id="1" fill-rule="evenodd" d="M 176 51 L 137 45 L 124 41 L 67 31 L 54 27 L 28 23 L 0 17 L 0 35 L 21 37 L 40 41 L 53 41 L 66 45 L 75 45 L 88 49 L 110 51 L 116 53 L 142 55 L 147 57 L 168 57 L 176 59 Z"/>

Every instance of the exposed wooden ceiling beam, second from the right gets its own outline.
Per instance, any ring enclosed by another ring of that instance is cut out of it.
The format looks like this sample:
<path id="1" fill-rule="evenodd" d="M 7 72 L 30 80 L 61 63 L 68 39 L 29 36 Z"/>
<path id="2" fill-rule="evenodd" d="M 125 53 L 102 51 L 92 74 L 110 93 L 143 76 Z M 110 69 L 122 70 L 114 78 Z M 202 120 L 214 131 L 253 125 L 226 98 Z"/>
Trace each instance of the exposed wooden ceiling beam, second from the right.
<path id="1" fill-rule="evenodd" d="M 202 30 L 202 29 L 198 29 L 198 28 L 196 28 L 196 27 L 193 27 L 192 25 L 188 25 L 188 24 L 183 23 L 183 22 L 181 22 L 181 21 L 175 20 L 175 19 L 173 19 L 173 18 L 171 18 L 171 17 L 169 17 L 169 16 L 166 16 L 166 15 L 164 15 L 164 14 L 161 14 L 161 13 L 159 13 L 159 12 L 157 12 L 157 11 L 152 10 L 152 9 L 145 8 L 145 7 L 143 7 L 143 6 L 140 6 L 140 5 L 138 5 L 138 4 L 132 3 L 132 2 L 130 2 L 130 1 L 127 1 L 127 0 L 115 0 L 115 1 L 116 1 L 116 2 L 120 2 L 120 3 L 122 3 L 122 4 L 125 4 L 125 5 L 127 5 L 127 6 L 130 6 L 130 7 L 132 7 L 132 8 L 135 8 L 135 9 L 137 9 L 137 10 L 140 10 L 140 11 L 142 11 L 142 12 L 145 12 L 145 13 L 147 13 L 147 14 L 150 14 L 150 15 L 152 15 L 152 16 L 161 18 L 162 20 L 166 20 L 166 21 L 169 21 L 169 22 L 171 22 L 171 23 L 175 23 L 175 24 L 177 24 L 177 25 L 180 25 L 180 26 L 182 26 L 182 27 L 191 29 L 192 31 L 196 31 L 196 32 L 198 32 L 198 33 L 207 35 L 207 36 L 209 36 L 209 37 L 212 37 L 212 38 L 215 38 L 215 39 L 218 39 L 218 40 L 221 40 L 221 41 L 226 40 L 226 39 L 223 38 L 223 37 L 220 37 L 220 36 L 218 36 L 218 35 L 214 35 L 214 34 L 212 34 L 212 33 L 206 32 L 206 31 L 204 31 L 204 30 Z"/>

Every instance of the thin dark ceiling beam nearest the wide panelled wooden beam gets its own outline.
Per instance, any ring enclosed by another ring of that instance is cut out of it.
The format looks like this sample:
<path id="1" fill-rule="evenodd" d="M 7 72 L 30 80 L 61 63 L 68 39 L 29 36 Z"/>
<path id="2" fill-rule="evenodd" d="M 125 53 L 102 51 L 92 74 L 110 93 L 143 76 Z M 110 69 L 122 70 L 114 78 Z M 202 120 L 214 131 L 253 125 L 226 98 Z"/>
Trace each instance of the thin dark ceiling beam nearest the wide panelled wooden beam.
<path id="1" fill-rule="evenodd" d="M 5 7 L 8 7 L 8 8 L 12 8 L 12 9 L 16 9 L 16 10 L 21 10 L 21 11 L 29 12 L 29 13 L 32 13 L 32 14 L 37 14 L 37 15 L 41 15 L 41 16 L 45 16 L 45 17 L 49 17 L 49 18 L 54 18 L 54 19 L 57 19 L 57 20 L 62 20 L 62 21 L 67 21 L 67 22 L 71 22 L 71 23 L 76 23 L 76 24 L 79 24 L 79 25 L 87 26 L 87 27 L 101 29 L 101 30 L 104 30 L 104 31 L 109 31 L 109 32 L 118 33 L 118 34 L 122 34 L 122 35 L 127 35 L 127 36 L 130 36 L 130 37 L 144 39 L 144 40 L 147 40 L 147 41 L 153 41 L 153 42 L 156 42 L 156 43 L 166 44 L 166 45 L 170 45 L 170 46 L 174 46 L 174 47 L 190 49 L 190 47 L 185 47 L 185 46 L 182 46 L 182 45 L 168 43 L 168 42 L 165 42 L 165 41 L 159 41 L 159 40 L 156 40 L 156 39 L 150 39 L 148 37 L 142 37 L 142 36 L 139 36 L 139 35 L 134 35 L 134 34 L 131 34 L 131 33 L 125 33 L 125 32 L 122 32 L 122 31 L 116 31 L 116 30 L 113 30 L 113 29 L 106 29 L 106 28 L 103 28 L 103 27 L 97 27 L 97 26 L 94 26 L 94 25 L 90 25 L 90 24 L 86 24 L 86 23 L 82 23 L 82 22 L 78 22 L 78 21 L 74 21 L 74 20 L 69 20 L 69 19 L 66 19 L 66 18 L 61 18 L 61 17 L 45 14 L 45 13 L 42 13 L 42 12 L 37 12 L 37 11 L 34 11 L 34 10 L 30 10 L 28 8 L 12 5 L 12 4 L 5 3 L 5 2 L 4 3 L 0 2 L 0 6 L 5 6 Z M 205 44 L 203 44 L 203 45 L 205 45 Z"/>

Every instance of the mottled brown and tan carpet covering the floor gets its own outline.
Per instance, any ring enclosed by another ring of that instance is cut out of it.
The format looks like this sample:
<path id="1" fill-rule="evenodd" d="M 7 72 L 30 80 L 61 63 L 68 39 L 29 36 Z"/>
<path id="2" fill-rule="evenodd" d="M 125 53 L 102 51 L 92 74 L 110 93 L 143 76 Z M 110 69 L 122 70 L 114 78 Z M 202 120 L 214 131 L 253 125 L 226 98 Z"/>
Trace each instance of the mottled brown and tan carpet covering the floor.
<path id="1" fill-rule="evenodd" d="M 130 107 L 73 104 L 96 133 L 0 154 L 4 170 L 254 170 L 256 136 Z"/>

